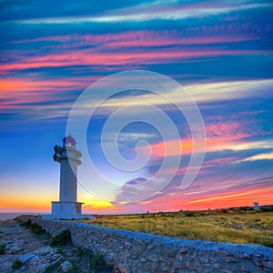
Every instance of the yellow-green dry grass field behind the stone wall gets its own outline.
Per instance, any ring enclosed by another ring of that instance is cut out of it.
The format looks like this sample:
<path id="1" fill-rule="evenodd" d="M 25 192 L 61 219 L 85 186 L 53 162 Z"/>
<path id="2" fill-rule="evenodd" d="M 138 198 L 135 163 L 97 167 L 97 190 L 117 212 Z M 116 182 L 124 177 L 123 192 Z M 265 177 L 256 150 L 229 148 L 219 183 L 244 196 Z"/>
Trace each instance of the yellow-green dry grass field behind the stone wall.
<path id="1" fill-rule="evenodd" d="M 241 208 L 135 215 L 105 215 L 82 222 L 182 239 L 273 247 L 273 211 Z"/>

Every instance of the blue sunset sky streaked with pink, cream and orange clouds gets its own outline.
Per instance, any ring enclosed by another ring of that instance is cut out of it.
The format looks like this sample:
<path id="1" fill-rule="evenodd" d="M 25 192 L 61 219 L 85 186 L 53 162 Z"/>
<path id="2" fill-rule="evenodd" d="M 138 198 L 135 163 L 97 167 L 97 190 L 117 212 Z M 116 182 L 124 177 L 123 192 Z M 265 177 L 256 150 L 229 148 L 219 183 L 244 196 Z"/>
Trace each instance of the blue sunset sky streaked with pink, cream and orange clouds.
<path id="1" fill-rule="evenodd" d="M 48 212 L 58 200 L 53 147 L 62 144 L 85 90 L 82 112 L 96 108 L 88 114 L 86 143 L 71 132 L 88 152 L 78 167 L 85 213 L 273 204 L 271 1 L 0 0 L 0 6 L 0 212 Z M 130 70 L 154 74 L 118 74 L 104 86 L 105 77 Z M 167 88 L 156 75 L 180 87 Z M 100 88 L 87 88 L 99 80 Z M 120 83 L 132 85 L 113 93 Z M 206 133 L 203 144 L 196 142 L 205 148 L 199 167 L 188 167 L 193 154 L 202 157 L 193 145 L 202 126 L 188 123 L 186 94 Z M 103 134 L 114 114 L 126 126 L 118 136 Z M 115 163 L 120 169 L 108 162 L 119 158 L 113 147 L 125 159 Z M 137 158 L 145 162 L 138 169 Z M 101 177 L 85 167 L 90 161 Z M 187 170 L 198 168 L 181 187 Z"/>

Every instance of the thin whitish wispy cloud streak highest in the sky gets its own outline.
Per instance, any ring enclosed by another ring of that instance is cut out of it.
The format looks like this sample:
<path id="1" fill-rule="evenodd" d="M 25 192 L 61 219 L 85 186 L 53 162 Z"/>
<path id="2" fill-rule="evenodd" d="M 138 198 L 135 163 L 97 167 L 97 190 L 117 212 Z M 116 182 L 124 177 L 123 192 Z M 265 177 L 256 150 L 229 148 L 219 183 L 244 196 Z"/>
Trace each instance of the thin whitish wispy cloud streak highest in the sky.
<path id="1" fill-rule="evenodd" d="M 162 4 L 162 3 L 161 3 Z M 35 19 L 25 19 L 10 21 L 16 24 L 81 24 L 81 23 L 127 23 L 144 22 L 150 20 L 183 20 L 187 18 L 203 18 L 210 15 L 221 15 L 230 12 L 265 8 L 271 6 L 270 3 L 264 4 L 242 4 L 230 6 L 181 6 L 181 5 L 163 5 L 161 8 L 154 9 L 154 5 L 139 5 L 130 8 L 117 9 L 110 13 L 104 13 L 99 16 L 69 16 L 69 17 L 44 17 Z"/>

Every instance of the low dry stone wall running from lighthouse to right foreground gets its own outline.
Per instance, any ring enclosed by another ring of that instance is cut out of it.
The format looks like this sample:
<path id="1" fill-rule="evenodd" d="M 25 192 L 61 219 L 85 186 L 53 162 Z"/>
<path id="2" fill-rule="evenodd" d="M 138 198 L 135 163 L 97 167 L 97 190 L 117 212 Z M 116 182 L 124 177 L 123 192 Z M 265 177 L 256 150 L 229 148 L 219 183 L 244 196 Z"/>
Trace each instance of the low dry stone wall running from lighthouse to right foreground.
<path id="1" fill-rule="evenodd" d="M 273 249 L 165 238 L 83 223 L 32 218 L 56 236 L 67 228 L 79 248 L 103 254 L 121 272 L 273 272 Z"/>

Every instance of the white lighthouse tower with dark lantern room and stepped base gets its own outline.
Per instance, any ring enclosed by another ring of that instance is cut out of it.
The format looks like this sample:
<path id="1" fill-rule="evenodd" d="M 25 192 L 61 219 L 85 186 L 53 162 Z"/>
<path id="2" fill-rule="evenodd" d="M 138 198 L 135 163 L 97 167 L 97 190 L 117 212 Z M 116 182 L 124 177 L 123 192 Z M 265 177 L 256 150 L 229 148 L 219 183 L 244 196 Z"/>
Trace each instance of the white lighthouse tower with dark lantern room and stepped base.
<path id="1" fill-rule="evenodd" d="M 54 160 L 60 163 L 60 197 L 52 201 L 51 215 L 43 218 L 78 219 L 89 217 L 82 215 L 82 204 L 76 201 L 77 195 L 77 166 L 81 164 L 80 151 L 76 149 L 76 140 L 72 136 L 63 139 L 63 147 L 55 146 Z M 90 218 L 90 217 L 89 217 Z"/>

